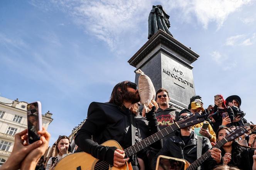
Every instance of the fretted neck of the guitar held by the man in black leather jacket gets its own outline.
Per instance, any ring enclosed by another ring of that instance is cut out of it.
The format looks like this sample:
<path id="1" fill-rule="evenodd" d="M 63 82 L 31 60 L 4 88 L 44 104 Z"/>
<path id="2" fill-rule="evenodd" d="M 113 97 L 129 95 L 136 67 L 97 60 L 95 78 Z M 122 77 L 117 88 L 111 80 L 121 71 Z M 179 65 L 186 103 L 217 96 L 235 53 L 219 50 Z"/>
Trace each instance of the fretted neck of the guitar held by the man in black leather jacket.
<path id="1" fill-rule="evenodd" d="M 221 148 L 225 143 L 227 143 L 226 138 L 222 138 L 219 142 L 214 145 L 212 148 Z M 212 149 L 211 148 L 211 149 Z M 195 162 L 193 162 L 186 170 L 196 170 L 207 158 L 211 157 L 211 153 L 209 151 L 205 152 L 200 158 L 198 158 Z"/>

